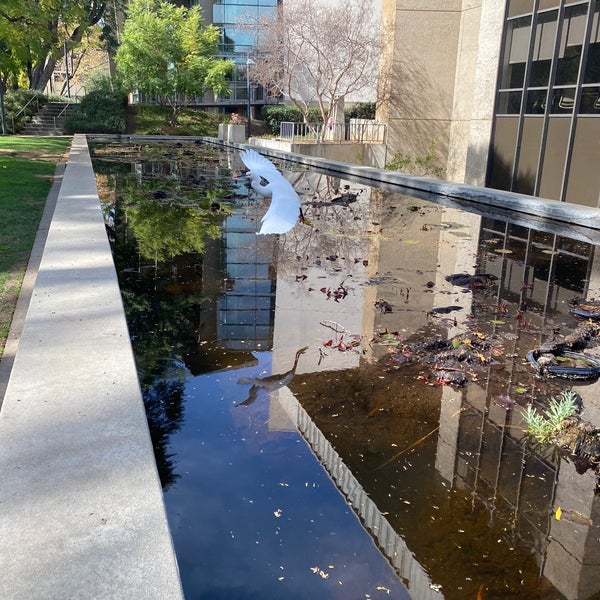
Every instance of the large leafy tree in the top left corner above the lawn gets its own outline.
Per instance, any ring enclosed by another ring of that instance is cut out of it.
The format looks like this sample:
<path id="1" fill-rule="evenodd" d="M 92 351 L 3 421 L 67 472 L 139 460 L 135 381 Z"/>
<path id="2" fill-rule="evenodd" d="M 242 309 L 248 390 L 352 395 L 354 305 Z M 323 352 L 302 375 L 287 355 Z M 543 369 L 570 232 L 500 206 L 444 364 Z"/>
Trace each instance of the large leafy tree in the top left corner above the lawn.
<path id="1" fill-rule="evenodd" d="M 115 0 L 111 9 L 118 9 Z M 2 0 L 0 2 L 0 77 L 5 88 L 28 81 L 43 90 L 65 47 L 77 48 L 90 28 L 105 16 L 106 2 L 98 0 Z M 105 40 L 109 37 L 104 22 Z"/>

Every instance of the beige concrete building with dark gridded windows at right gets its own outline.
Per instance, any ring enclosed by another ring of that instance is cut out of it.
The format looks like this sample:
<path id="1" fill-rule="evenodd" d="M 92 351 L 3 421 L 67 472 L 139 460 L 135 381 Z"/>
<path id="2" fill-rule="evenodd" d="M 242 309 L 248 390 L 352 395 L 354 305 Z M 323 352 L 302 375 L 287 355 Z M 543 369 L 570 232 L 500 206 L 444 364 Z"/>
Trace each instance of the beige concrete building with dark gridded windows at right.
<path id="1" fill-rule="evenodd" d="M 600 203 L 598 0 L 384 0 L 390 153 L 448 179 Z"/>

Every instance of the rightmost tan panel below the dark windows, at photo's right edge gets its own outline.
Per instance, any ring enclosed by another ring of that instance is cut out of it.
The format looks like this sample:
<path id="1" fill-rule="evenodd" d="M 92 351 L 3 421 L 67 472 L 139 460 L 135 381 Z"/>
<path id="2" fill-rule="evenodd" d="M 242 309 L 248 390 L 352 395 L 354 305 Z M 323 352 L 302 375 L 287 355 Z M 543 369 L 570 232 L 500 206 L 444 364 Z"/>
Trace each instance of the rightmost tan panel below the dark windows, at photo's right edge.
<path id="1" fill-rule="evenodd" d="M 600 199 L 600 119 L 579 117 L 575 130 L 567 202 L 598 207 Z"/>

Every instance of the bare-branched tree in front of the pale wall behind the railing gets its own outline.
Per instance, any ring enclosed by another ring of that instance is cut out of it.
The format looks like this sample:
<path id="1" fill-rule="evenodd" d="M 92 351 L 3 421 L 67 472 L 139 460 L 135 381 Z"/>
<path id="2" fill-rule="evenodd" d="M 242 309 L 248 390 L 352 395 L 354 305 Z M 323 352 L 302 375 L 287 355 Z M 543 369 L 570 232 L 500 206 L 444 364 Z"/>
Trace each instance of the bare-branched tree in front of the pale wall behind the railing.
<path id="1" fill-rule="evenodd" d="M 305 122 L 311 106 L 328 123 L 345 98 L 376 88 L 380 32 L 373 0 L 291 0 L 276 15 L 242 27 L 256 32 L 250 76 L 287 96 Z"/>

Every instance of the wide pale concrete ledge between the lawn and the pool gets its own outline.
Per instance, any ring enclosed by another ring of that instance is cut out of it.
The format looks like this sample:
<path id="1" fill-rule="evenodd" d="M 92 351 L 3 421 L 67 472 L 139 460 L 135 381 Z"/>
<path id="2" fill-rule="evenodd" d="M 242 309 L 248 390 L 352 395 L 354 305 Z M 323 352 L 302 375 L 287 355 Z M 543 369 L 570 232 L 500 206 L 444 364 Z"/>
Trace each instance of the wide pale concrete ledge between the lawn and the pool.
<path id="1" fill-rule="evenodd" d="M 183 598 L 81 135 L 6 384 L 0 475 L 0 598 Z"/>

